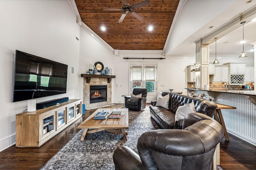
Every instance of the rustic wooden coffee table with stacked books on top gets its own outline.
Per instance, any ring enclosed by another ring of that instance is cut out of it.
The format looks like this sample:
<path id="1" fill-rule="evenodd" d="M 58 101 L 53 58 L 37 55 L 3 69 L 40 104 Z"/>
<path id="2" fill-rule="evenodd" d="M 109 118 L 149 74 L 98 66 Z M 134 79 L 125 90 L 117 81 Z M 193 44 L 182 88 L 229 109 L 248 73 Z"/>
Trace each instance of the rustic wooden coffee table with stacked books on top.
<path id="1" fill-rule="evenodd" d="M 110 131 L 115 133 L 122 133 L 124 141 L 127 141 L 126 135 L 127 132 L 125 129 L 128 129 L 128 108 L 121 109 L 121 118 L 120 119 L 104 119 L 104 120 L 94 120 L 94 115 L 96 115 L 102 109 L 113 108 L 100 108 L 94 111 L 85 121 L 83 121 L 77 128 L 84 129 L 80 141 L 83 141 L 87 133 L 95 133 L 100 131 Z M 91 129 L 91 130 L 89 130 Z"/>

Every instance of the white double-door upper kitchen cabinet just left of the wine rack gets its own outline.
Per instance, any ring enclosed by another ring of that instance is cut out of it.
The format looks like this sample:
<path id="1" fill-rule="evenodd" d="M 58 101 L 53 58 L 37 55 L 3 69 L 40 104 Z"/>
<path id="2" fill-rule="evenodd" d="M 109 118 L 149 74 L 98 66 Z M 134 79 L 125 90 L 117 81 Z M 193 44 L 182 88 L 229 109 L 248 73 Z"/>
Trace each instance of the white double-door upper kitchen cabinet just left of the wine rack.
<path id="1" fill-rule="evenodd" d="M 214 82 L 229 82 L 229 68 L 228 66 L 214 67 Z"/>

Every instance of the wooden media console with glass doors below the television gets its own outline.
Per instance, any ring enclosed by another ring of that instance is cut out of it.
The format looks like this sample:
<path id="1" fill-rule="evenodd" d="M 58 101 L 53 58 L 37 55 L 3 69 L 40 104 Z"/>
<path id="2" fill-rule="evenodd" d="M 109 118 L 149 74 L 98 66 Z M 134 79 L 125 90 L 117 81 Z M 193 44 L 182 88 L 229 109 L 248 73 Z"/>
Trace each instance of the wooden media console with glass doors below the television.
<path id="1" fill-rule="evenodd" d="M 82 116 L 82 100 L 16 115 L 16 147 L 40 147 Z"/>

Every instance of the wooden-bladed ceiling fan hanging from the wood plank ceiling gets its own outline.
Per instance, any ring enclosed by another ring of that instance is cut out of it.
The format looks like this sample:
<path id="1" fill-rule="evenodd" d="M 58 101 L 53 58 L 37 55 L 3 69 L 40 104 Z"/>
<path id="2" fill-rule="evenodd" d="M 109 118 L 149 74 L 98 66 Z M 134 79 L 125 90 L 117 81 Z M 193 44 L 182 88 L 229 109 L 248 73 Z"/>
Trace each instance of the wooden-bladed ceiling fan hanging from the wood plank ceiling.
<path id="1" fill-rule="evenodd" d="M 143 20 L 142 16 L 140 16 L 139 14 L 136 14 L 133 10 L 150 4 L 150 0 L 145 0 L 135 5 L 128 4 L 126 0 L 121 0 L 121 1 L 123 4 L 121 9 L 120 8 L 103 8 L 103 11 L 123 11 L 124 13 L 122 14 L 118 23 L 121 23 L 124 20 L 124 17 L 126 16 L 126 14 L 128 13 L 130 13 L 132 16 L 134 16 L 140 21 Z"/>

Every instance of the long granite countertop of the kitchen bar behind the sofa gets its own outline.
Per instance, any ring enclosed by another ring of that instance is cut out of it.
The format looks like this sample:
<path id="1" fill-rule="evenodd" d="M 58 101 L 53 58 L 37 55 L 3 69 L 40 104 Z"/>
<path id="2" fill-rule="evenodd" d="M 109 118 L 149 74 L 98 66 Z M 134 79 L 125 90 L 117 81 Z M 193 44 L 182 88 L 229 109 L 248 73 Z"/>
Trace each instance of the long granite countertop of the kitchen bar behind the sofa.
<path id="1" fill-rule="evenodd" d="M 199 88 L 185 88 L 187 90 L 202 90 L 207 92 L 223 92 L 223 93 L 232 93 L 232 94 L 245 94 L 250 96 L 256 96 L 256 91 L 250 89 L 241 89 L 241 90 L 205 90 Z"/>

